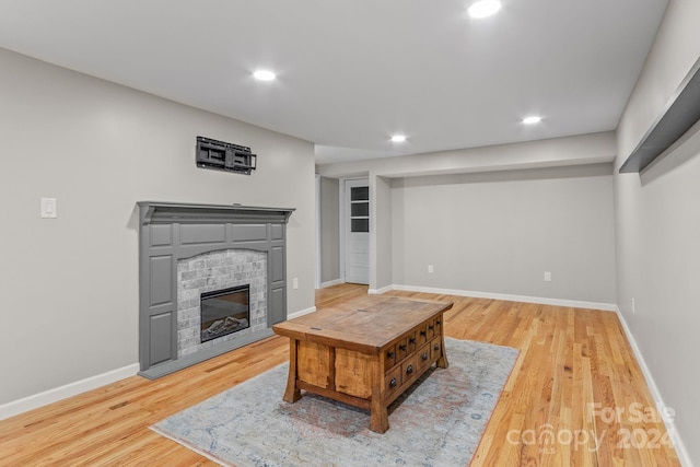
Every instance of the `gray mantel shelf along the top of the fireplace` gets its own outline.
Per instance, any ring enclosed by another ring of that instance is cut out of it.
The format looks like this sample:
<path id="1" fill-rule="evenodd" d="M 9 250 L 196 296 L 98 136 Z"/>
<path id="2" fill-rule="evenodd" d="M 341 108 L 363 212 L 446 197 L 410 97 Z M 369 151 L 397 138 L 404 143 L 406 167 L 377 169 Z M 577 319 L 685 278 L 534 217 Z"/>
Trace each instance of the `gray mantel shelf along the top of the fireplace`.
<path id="1" fill-rule="evenodd" d="M 242 205 L 195 205 L 182 202 L 139 201 L 141 225 L 162 223 L 287 223 L 294 208 L 266 208 Z"/>

